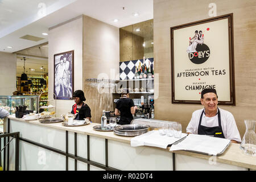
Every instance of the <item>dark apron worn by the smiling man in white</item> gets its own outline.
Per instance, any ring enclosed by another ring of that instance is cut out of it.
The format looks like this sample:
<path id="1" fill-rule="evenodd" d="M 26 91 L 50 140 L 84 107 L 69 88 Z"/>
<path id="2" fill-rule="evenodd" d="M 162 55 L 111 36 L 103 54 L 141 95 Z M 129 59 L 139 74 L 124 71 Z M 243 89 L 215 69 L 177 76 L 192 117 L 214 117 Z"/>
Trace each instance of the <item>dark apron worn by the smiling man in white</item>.
<path id="1" fill-rule="evenodd" d="M 214 126 L 214 127 L 207 127 L 207 126 L 202 126 L 201 125 L 201 121 L 202 121 L 202 117 L 204 114 L 204 110 L 201 113 L 200 116 L 200 121 L 199 121 L 199 126 L 198 126 L 198 134 L 199 135 L 211 135 L 213 137 L 219 137 L 219 138 L 225 138 L 223 131 L 222 131 L 222 127 L 221 127 L 221 118 L 220 118 L 220 110 L 218 109 L 218 126 Z"/>

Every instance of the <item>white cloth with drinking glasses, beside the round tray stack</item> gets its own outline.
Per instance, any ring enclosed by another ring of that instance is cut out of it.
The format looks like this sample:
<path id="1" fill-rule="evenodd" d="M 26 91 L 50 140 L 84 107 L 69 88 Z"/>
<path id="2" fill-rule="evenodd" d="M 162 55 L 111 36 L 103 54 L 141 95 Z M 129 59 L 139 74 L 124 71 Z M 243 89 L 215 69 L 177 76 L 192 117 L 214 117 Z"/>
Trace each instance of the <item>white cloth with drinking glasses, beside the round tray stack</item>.
<path id="1" fill-rule="evenodd" d="M 151 147 L 167 148 L 169 144 L 175 143 L 186 136 L 187 134 L 182 133 L 181 138 L 168 137 L 166 135 L 160 135 L 159 130 L 152 130 L 148 133 L 132 138 L 131 146 L 132 147 L 151 146 Z"/>

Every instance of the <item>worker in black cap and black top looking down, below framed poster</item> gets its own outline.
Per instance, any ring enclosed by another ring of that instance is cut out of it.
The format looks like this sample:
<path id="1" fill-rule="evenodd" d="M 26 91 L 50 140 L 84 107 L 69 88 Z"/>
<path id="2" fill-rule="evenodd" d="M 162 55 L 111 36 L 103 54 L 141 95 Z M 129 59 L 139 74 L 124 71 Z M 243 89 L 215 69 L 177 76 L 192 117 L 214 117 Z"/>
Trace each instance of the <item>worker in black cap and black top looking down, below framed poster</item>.
<path id="1" fill-rule="evenodd" d="M 73 94 L 73 98 L 76 104 L 72 106 L 71 113 L 72 114 L 78 113 L 75 119 L 84 120 L 84 118 L 88 118 L 90 121 L 90 118 L 92 117 L 92 115 L 90 114 L 90 107 L 83 102 L 83 101 L 86 101 L 84 97 L 84 92 L 82 92 L 82 90 L 76 90 Z"/>

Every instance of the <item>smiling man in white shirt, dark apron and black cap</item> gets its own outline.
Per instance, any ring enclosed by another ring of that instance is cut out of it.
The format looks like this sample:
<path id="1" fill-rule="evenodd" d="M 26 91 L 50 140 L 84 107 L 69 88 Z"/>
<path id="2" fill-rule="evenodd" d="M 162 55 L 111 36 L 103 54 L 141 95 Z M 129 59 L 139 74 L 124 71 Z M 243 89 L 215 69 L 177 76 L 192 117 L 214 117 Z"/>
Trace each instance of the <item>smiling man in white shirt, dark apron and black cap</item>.
<path id="1" fill-rule="evenodd" d="M 241 142 L 233 114 L 217 106 L 216 90 L 202 90 L 200 100 L 204 109 L 193 112 L 191 121 L 188 123 L 187 133 L 226 138 L 233 143 Z"/>

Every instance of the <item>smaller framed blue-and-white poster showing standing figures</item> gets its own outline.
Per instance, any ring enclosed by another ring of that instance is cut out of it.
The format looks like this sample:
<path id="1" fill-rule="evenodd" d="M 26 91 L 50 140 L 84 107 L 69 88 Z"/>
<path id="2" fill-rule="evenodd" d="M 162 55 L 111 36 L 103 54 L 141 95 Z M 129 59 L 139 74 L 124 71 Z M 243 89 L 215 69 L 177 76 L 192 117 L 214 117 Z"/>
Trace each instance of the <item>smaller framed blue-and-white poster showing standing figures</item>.
<path id="1" fill-rule="evenodd" d="M 71 100 L 74 88 L 74 51 L 54 55 L 54 93 L 56 99 Z"/>

